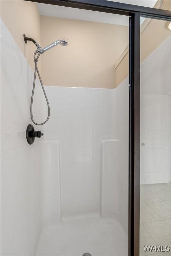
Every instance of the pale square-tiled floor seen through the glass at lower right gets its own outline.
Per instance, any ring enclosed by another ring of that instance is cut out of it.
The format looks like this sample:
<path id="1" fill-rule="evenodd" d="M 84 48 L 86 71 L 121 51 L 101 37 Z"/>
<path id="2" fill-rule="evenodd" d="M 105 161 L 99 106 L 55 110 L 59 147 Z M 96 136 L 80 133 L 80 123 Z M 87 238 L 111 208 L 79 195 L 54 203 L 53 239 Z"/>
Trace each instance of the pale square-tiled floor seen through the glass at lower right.
<path id="1" fill-rule="evenodd" d="M 170 252 L 145 252 L 144 245 L 170 246 Z M 140 186 L 140 255 L 171 255 L 171 184 Z"/>

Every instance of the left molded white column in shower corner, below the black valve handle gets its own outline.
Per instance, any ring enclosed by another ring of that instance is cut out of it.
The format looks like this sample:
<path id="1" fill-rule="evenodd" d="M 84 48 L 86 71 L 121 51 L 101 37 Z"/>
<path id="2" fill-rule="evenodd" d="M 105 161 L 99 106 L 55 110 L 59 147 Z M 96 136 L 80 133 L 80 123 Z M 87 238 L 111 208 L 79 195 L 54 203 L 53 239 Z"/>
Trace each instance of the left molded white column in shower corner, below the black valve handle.
<path id="1" fill-rule="evenodd" d="M 41 191 L 42 223 L 61 221 L 61 165 L 58 141 L 42 141 L 41 145 Z"/>

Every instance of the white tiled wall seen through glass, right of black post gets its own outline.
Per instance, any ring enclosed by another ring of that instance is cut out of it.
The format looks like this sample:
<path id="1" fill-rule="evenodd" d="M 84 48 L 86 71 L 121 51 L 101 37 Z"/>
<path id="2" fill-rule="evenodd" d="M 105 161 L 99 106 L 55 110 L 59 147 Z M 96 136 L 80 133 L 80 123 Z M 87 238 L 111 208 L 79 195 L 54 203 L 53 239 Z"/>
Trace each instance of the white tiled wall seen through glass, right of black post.
<path id="1" fill-rule="evenodd" d="M 171 37 L 141 64 L 141 184 L 171 180 Z"/>

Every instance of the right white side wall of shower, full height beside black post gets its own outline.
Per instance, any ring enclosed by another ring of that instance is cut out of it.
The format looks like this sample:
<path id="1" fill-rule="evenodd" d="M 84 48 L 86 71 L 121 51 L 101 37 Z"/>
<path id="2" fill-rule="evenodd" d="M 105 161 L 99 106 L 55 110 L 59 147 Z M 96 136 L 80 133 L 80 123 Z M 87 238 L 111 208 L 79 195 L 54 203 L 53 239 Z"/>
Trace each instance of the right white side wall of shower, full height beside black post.
<path id="1" fill-rule="evenodd" d="M 111 138 L 105 143 L 106 151 L 103 155 L 104 167 L 102 171 L 106 178 L 103 190 L 113 196 L 111 208 L 109 199 L 104 197 L 103 213 L 113 213 L 122 223 L 128 235 L 128 185 L 129 185 L 129 92 L 128 77 L 115 89 L 111 90 Z M 117 140 L 117 141 L 115 141 Z M 105 165 L 106 163 L 106 165 Z M 111 182 L 113 177 L 113 187 Z M 113 194 L 114 191 L 114 194 Z M 104 193 L 105 196 L 105 193 Z M 107 196 L 107 195 L 106 195 Z M 122 202 L 122 204 L 120 203 Z"/>

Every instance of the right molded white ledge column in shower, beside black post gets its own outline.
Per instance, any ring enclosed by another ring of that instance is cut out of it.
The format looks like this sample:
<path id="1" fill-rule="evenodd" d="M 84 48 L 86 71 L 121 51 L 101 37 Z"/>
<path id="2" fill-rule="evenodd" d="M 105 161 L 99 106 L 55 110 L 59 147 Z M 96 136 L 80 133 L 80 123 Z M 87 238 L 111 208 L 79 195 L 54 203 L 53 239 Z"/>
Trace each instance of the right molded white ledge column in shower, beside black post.
<path id="1" fill-rule="evenodd" d="M 101 216 L 118 219 L 128 234 L 128 141 L 102 140 L 101 161 Z"/>

